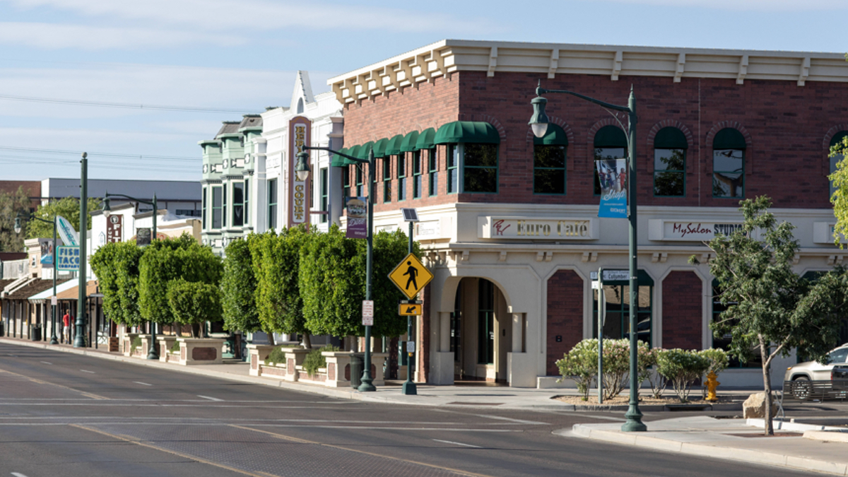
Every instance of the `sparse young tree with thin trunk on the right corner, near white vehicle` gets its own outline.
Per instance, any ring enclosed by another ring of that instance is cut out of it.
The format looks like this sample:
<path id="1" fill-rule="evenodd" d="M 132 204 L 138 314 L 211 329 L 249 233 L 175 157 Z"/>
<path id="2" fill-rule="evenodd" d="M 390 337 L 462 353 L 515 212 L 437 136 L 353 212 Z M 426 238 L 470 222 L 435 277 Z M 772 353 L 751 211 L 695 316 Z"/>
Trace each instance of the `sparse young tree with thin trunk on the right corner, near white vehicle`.
<path id="1" fill-rule="evenodd" d="M 780 222 L 767 210 L 767 197 L 746 199 L 739 210 L 742 227 L 719 235 L 707 246 L 716 254 L 710 272 L 722 289 L 727 306 L 711 323 L 716 336 L 731 334 L 731 352 L 740 360 L 754 351 L 762 357 L 762 379 L 771 395 L 770 371 L 776 356 L 798 354 L 823 359 L 838 339 L 840 320 L 848 304 L 848 273 L 836 267 L 816 283 L 792 269 L 798 243 L 789 222 Z M 697 263 L 695 256 L 689 261 Z M 771 400 L 766 400 L 766 435 L 773 435 Z"/>

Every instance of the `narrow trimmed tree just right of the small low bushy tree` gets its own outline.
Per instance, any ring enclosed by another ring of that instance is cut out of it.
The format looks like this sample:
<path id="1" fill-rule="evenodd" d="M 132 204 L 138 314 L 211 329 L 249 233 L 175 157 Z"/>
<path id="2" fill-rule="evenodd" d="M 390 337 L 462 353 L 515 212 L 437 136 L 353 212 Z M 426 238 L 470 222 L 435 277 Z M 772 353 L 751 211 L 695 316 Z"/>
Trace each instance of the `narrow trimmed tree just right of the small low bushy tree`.
<path id="1" fill-rule="evenodd" d="M 253 333 L 262 329 L 254 293 L 256 276 L 247 239 L 237 239 L 226 246 L 224 272 L 220 278 L 220 301 L 224 328 Z"/>

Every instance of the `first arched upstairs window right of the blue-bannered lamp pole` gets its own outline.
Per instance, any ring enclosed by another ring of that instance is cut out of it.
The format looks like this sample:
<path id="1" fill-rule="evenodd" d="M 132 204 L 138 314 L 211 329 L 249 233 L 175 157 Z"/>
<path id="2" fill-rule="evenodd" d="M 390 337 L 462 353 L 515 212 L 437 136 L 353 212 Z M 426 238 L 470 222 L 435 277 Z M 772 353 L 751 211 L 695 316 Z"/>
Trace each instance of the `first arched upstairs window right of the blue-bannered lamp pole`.
<path id="1" fill-rule="evenodd" d="M 663 127 L 654 137 L 654 195 L 686 195 L 686 149 L 689 143 L 677 127 Z"/>

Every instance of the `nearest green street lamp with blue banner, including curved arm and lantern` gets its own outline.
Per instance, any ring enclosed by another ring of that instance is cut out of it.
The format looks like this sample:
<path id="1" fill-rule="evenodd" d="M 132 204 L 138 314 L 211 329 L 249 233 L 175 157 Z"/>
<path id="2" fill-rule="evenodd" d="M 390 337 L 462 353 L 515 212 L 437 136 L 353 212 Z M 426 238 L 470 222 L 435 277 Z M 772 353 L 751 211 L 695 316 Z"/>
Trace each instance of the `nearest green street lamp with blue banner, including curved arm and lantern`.
<path id="1" fill-rule="evenodd" d="M 577 96 L 577 98 L 585 99 L 589 103 L 598 104 L 605 109 L 613 109 L 623 111 L 628 114 L 628 221 L 630 222 L 630 402 L 628 412 L 624 414 L 627 422 L 622 424 L 622 431 L 644 431 L 647 426 L 642 423 L 642 412 L 639 411 L 639 373 L 637 367 L 637 342 L 636 342 L 636 307 L 639 306 L 639 274 L 636 266 L 636 97 L 633 95 L 633 87 L 630 88 L 630 98 L 628 98 L 627 106 L 606 103 L 599 99 L 590 98 L 583 94 L 566 91 L 564 89 L 544 89 L 539 86 L 536 88 L 536 98 L 530 101 L 533 104 L 533 116 L 530 118 L 530 127 L 533 129 L 533 135 L 536 137 L 544 137 L 548 130 L 548 115 L 544 112 L 545 104 L 548 100 L 542 95 L 545 93 L 565 93 Z M 598 330 L 598 338 L 601 337 L 601 331 Z"/>

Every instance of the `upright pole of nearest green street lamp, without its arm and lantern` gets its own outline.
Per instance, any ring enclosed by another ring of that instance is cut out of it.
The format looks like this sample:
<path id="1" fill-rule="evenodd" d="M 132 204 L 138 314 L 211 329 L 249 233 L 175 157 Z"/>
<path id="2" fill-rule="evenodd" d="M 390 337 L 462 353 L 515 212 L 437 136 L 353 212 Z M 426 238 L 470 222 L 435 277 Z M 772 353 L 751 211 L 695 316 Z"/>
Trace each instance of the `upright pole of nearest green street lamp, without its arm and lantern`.
<path id="1" fill-rule="evenodd" d="M 628 121 L 628 196 L 630 199 L 628 218 L 630 220 L 630 402 L 628 412 L 624 413 L 627 422 L 622 424 L 624 432 L 638 432 L 648 430 L 648 426 L 642 423 L 642 412 L 639 411 L 639 373 L 637 360 L 638 341 L 636 336 L 636 310 L 639 306 L 639 268 L 636 264 L 636 97 L 633 95 L 633 87 L 630 87 L 630 98 L 628 98 L 629 121 Z"/>

